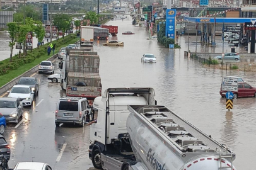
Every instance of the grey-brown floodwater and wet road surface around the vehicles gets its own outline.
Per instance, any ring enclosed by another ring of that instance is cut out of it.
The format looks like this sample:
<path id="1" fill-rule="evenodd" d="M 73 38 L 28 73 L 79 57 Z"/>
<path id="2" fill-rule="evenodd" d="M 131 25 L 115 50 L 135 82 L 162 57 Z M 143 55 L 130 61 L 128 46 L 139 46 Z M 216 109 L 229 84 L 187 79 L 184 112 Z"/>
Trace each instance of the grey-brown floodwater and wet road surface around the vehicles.
<path id="1" fill-rule="evenodd" d="M 165 105 L 212 138 L 227 144 L 236 154 L 236 169 L 252 169 L 256 154 L 256 99 L 234 99 L 234 109 L 227 111 L 219 89 L 222 76 L 240 76 L 256 86 L 255 74 L 204 68 L 184 57 L 185 37 L 181 37 L 181 49 L 169 50 L 156 41 L 146 40 L 148 31 L 132 26 L 131 22 L 127 17 L 124 21 L 107 23 L 119 26 L 117 38 L 124 42 L 124 47 L 105 47 L 104 41 L 94 45 L 100 55 L 103 91 L 120 87 L 154 88 L 158 105 Z M 135 34 L 122 35 L 124 31 Z M 156 64 L 141 62 L 144 53 L 154 54 Z M 5 137 L 11 145 L 9 166 L 33 159 L 47 162 L 54 169 L 94 169 L 88 159 L 89 127 L 55 128 L 55 107 L 64 92 L 59 83 L 48 82 L 48 75 L 33 76 L 40 79 L 40 88 L 32 109 L 25 109 L 18 127 L 8 124 L 6 129 Z"/>

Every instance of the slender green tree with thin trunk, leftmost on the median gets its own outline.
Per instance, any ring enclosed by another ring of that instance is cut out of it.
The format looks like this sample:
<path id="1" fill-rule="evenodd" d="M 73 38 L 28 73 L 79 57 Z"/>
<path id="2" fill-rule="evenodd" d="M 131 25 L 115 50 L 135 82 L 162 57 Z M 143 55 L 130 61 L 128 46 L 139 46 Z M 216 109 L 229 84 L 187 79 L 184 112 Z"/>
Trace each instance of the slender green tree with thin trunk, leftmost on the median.
<path id="1" fill-rule="evenodd" d="M 16 35 L 18 31 L 18 25 L 17 23 L 8 23 L 8 31 L 9 31 L 9 37 L 11 38 L 11 42 L 9 42 L 9 47 L 11 47 L 11 54 L 10 54 L 10 62 L 12 62 L 13 58 L 13 46 L 15 46 L 16 42 Z"/>

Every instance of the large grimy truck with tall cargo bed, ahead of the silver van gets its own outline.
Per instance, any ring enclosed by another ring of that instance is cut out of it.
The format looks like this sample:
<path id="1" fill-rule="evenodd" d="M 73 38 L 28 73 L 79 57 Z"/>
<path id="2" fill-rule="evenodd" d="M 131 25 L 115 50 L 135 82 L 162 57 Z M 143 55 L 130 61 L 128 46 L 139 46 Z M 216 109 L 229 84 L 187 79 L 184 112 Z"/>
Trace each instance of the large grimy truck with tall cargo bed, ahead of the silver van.
<path id="1" fill-rule="evenodd" d="M 60 68 L 61 88 L 67 96 L 87 98 L 90 103 L 101 96 L 100 57 L 92 47 L 66 49 Z"/>

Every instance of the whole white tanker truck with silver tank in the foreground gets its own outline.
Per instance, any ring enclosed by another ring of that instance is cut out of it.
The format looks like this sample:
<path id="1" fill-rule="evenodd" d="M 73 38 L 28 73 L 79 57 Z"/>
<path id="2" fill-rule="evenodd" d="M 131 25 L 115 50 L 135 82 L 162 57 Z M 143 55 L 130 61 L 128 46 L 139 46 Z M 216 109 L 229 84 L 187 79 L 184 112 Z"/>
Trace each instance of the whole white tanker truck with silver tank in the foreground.
<path id="1" fill-rule="evenodd" d="M 89 157 L 98 169 L 235 170 L 226 145 L 157 106 L 152 88 L 107 89 L 93 116 Z"/>

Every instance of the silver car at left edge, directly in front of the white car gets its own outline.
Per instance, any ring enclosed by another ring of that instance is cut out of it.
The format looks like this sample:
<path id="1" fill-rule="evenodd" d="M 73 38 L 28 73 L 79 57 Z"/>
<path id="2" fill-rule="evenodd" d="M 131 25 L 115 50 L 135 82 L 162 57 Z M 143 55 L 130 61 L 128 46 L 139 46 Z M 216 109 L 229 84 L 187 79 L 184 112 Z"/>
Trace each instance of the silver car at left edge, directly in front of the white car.
<path id="1" fill-rule="evenodd" d="M 23 116 L 22 102 L 20 102 L 19 98 L 0 98 L 0 113 L 2 113 L 5 118 L 4 122 L 18 123 L 19 119 Z M 2 118 L 0 118 L 0 122 L 1 119 Z M 1 125 L 2 123 L 0 123 L 0 133 L 2 130 Z"/>

